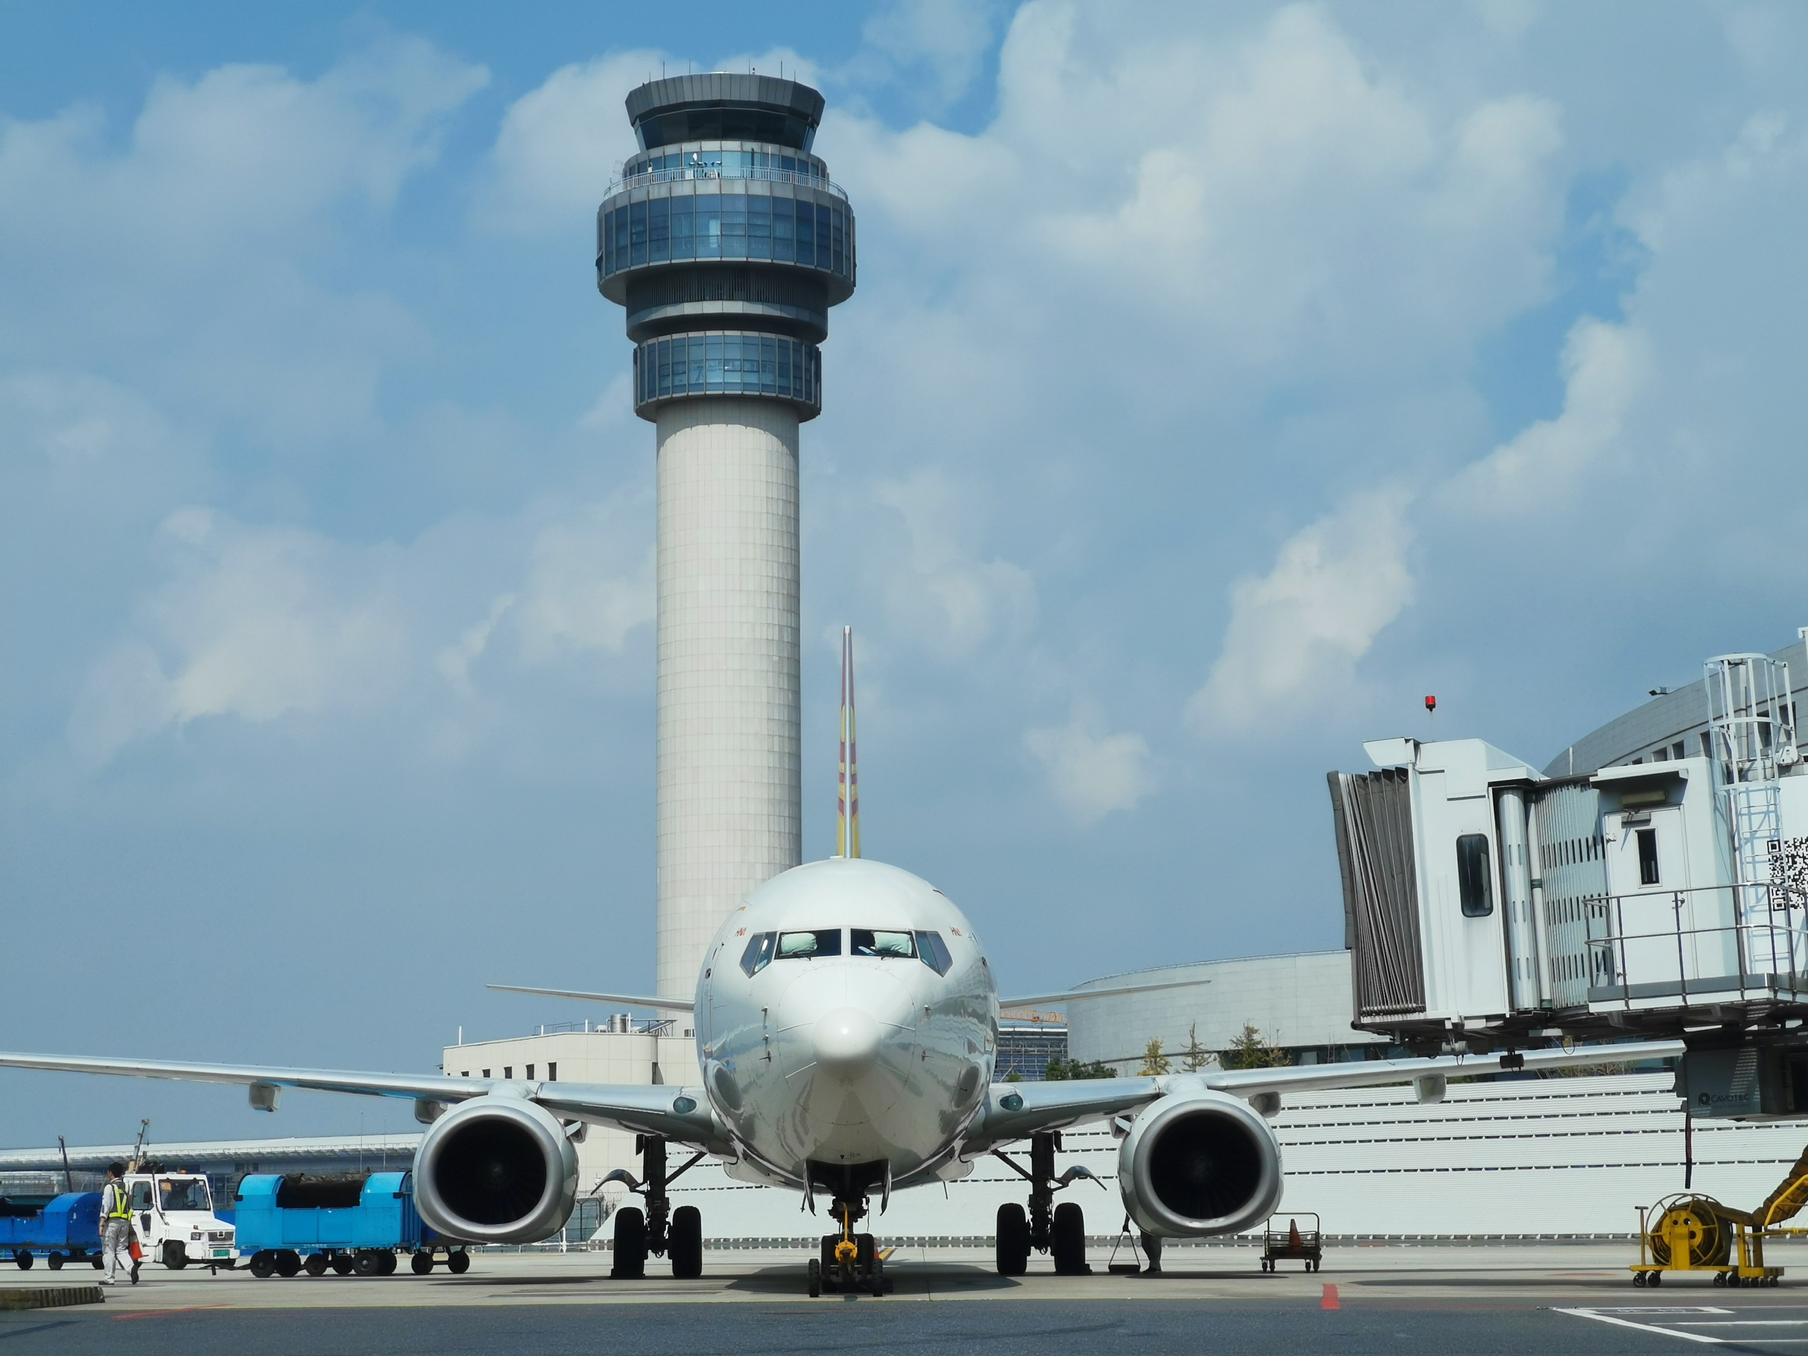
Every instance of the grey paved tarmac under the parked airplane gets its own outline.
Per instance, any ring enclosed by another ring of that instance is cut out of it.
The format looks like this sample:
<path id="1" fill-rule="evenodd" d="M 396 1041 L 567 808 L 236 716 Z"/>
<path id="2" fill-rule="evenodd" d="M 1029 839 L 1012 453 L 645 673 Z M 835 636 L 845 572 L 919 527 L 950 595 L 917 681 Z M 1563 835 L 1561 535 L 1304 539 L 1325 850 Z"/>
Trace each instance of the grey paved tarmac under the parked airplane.
<path id="1" fill-rule="evenodd" d="M 479 1253 L 463 1276 L 208 1275 L 143 1267 L 101 1304 L 0 1313 L 0 1356 L 36 1352 L 893 1351 L 1645 1352 L 1808 1349 L 1808 1244 L 1770 1249 L 1775 1289 L 1671 1276 L 1631 1284 L 1634 1244 L 1329 1248 L 1323 1269 L 1255 1251 L 1172 1248 L 1161 1275 L 998 1276 L 982 1251 L 900 1249 L 884 1298 L 805 1293 L 799 1251 L 705 1251 L 702 1280 L 611 1280 L 607 1253 Z M 0 1271 L 0 1287 L 92 1285 L 87 1267 Z M 123 1327 L 125 1325 L 125 1327 Z"/>

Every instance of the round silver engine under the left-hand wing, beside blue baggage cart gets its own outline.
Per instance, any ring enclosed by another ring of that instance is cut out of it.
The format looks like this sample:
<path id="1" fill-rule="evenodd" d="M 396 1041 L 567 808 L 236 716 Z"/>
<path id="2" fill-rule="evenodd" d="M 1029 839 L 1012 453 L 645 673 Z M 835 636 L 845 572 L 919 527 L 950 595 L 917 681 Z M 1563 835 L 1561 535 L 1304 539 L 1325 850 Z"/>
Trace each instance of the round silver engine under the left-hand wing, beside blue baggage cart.
<path id="1" fill-rule="evenodd" d="M 463 1242 L 539 1242 L 577 1201 L 577 1150 L 564 1126 L 523 1097 L 461 1101 L 421 1135 L 414 1208 Z"/>

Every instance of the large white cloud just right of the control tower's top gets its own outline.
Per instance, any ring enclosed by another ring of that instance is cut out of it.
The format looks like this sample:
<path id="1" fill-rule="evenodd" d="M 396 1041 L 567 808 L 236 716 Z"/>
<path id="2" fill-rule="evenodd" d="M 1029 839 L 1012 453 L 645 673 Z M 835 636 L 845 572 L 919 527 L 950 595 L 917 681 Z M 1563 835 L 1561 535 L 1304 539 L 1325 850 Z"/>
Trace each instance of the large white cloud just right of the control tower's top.
<path id="1" fill-rule="evenodd" d="M 1398 367 L 1546 295 L 1555 103 L 1436 107 L 1322 7 L 1242 40 L 1202 27 L 1025 4 L 984 132 L 832 118 L 824 143 L 940 266 L 1016 309 L 1181 324 L 1201 369 Z"/>

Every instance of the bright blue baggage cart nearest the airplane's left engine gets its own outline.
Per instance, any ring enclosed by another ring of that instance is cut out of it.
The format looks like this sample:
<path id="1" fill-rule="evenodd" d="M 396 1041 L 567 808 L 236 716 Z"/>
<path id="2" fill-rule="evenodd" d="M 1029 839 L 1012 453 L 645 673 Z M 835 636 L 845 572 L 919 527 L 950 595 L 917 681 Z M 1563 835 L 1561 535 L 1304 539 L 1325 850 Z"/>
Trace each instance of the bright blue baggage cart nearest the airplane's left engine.
<path id="1" fill-rule="evenodd" d="M 414 1173 L 372 1172 L 344 1177 L 251 1173 L 233 1197 L 239 1255 L 253 1276 L 387 1276 L 396 1255 L 425 1276 L 445 1255 L 454 1275 L 470 1267 L 461 1244 L 421 1224 L 414 1210 Z"/>

